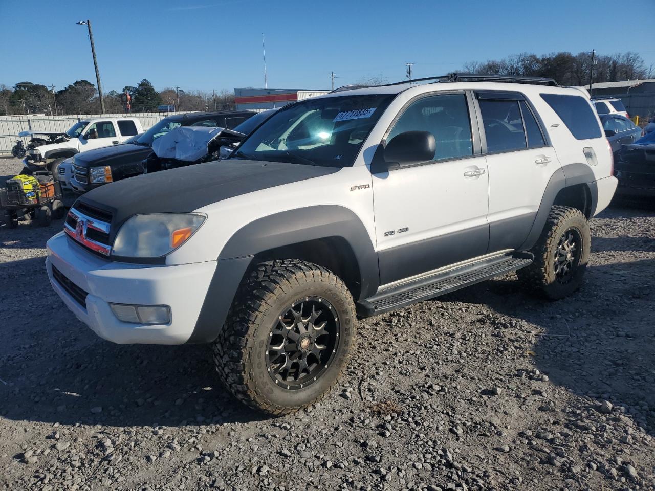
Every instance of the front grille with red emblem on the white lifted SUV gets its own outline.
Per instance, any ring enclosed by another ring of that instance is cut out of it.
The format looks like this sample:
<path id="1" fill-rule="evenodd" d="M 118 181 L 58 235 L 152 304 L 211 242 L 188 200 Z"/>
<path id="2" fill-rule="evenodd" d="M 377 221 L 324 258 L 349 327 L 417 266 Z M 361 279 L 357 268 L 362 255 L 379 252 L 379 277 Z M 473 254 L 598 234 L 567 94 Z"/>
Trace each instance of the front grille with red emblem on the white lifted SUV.
<path id="1" fill-rule="evenodd" d="M 111 254 L 111 218 L 111 213 L 78 201 L 68 212 L 64 232 L 86 249 L 107 258 Z"/>

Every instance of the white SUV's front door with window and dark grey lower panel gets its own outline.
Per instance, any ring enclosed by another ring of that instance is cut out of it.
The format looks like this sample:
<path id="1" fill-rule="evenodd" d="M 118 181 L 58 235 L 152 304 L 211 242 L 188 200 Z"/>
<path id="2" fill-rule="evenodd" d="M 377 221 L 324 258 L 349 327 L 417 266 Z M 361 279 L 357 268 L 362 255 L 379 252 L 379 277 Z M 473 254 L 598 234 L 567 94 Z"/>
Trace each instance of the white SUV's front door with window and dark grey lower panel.
<path id="1" fill-rule="evenodd" d="M 373 174 L 381 285 L 484 255 L 489 242 L 487 162 L 464 91 L 419 96 L 386 141 L 407 131 L 436 139 L 434 159 Z"/>

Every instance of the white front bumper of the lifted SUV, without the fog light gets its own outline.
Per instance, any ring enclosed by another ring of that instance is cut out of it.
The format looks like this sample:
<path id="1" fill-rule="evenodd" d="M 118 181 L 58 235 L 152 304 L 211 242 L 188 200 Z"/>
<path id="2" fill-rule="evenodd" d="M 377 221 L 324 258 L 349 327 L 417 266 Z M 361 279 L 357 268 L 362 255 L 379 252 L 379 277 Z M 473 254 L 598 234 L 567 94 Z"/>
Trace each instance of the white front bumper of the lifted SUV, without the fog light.
<path id="1" fill-rule="evenodd" d="M 98 336 L 119 344 L 183 344 L 189 340 L 216 269 L 216 261 L 154 266 L 109 262 L 73 244 L 64 232 L 47 242 L 46 268 L 52 288 L 66 306 Z M 56 268 L 70 282 L 65 287 L 53 276 Z M 71 293 L 71 283 L 77 293 Z M 80 295 L 83 291 L 86 295 Z M 84 303 L 81 304 L 81 302 Z M 109 302 L 168 305 L 166 325 L 119 321 Z"/>

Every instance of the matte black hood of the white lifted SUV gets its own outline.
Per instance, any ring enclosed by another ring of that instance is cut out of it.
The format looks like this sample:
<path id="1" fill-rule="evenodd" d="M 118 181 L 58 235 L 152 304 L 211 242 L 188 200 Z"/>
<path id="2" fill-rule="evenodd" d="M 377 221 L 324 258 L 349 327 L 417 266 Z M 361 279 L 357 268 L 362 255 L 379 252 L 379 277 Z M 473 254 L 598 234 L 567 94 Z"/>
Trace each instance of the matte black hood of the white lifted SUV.
<path id="1" fill-rule="evenodd" d="M 113 214 L 121 225 L 142 213 L 189 213 L 208 204 L 261 189 L 312 179 L 339 171 L 320 167 L 259 160 L 219 160 L 130 177 L 79 198 Z M 280 196 L 293 200 L 293 196 Z M 117 227 L 112 227 L 113 232 Z"/>

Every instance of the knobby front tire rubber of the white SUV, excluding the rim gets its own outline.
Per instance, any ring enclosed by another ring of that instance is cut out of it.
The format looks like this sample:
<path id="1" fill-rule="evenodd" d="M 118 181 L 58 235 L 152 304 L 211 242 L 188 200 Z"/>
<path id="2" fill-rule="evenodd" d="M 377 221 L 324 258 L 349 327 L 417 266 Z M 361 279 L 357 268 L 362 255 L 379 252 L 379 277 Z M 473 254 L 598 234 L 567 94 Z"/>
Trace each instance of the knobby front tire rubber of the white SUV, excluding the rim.
<path id="1" fill-rule="evenodd" d="M 329 366 L 305 388 L 276 384 L 267 366 L 269 333 L 280 312 L 307 297 L 326 299 L 339 318 L 338 347 Z M 253 409 L 288 414 L 316 402 L 331 390 L 354 346 L 356 314 L 345 283 L 316 264 L 293 259 L 255 266 L 236 293 L 227 321 L 214 342 L 214 363 L 225 387 Z"/>

